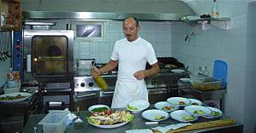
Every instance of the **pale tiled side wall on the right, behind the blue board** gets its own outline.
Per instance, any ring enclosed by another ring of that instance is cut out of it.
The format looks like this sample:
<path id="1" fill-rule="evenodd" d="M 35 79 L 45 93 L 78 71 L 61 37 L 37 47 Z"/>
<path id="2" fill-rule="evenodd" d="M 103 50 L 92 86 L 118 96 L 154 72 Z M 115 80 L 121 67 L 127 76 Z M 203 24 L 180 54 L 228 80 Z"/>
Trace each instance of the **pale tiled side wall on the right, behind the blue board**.
<path id="1" fill-rule="evenodd" d="M 174 23 L 171 27 L 171 54 L 188 65 L 193 73 L 198 72 L 199 66 L 206 66 L 212 72 L 213 61 L 226 61 L 228 88 L 224 111 L 229 117 L 245 124 L 244 132 L 255 132 L 256 120 L 252 116 L 256 115 L 252 110 L 256 109 L 253 103 L 256 101 L 256 6 L 249 9 L 247 25 L 247 1 L 224 0 L 222 3 L 227 5 L 224 11 L 231 17 L 232 28 L 225 31 L 215 26 L 207 26 L 207 30 L 202 31 L 199 26 Z M 224 8 L 223 5 L 221 7 Z M 196 35 L 185 42 L 186 35 L 191 31 L 195 31 Z"/>

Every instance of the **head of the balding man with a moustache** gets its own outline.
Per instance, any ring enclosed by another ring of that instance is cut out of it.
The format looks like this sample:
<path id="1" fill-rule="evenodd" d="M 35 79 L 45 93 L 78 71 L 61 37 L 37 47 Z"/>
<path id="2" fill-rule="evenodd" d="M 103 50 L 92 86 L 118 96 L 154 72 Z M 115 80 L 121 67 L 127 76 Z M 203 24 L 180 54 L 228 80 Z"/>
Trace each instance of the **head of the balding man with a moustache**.
<path id="1" fill-rule="evenodd" d="M 123 20 L 123 32 L 128 41 L 135 41 L 139 31 L 139 21 L 135 17 L 129 16 Z"/>

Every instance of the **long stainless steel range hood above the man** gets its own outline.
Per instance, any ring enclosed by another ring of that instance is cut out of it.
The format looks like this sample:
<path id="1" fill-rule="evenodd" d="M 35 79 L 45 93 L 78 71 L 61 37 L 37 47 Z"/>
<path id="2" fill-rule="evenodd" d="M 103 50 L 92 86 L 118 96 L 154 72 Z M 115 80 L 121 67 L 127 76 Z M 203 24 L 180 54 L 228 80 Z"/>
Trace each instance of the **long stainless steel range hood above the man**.
<path id="1" fill-rule="evenodd" d="M 180 20 L 195 13 L 182 0 L 22 0 L 26 20 Z"/>

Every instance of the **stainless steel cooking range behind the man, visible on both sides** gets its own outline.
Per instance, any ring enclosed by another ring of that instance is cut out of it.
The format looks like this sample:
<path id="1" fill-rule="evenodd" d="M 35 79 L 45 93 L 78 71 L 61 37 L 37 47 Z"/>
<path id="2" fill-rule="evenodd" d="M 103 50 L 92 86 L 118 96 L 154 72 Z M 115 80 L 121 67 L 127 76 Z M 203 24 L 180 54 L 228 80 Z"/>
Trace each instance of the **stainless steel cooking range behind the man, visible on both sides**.
<path id="1" fill-rule="evenodd" d="M 170 57 L 158 58 L 161 71 L 158 73 L 158 75 L 145 79 L 149 92 L 149 100 L 151 103 L 165 101 L 171 96 L 177 96 L 178 79 L 189 76 L 187 71 L 179 73 L 171 72 L 173 68 L 167 68 L 164 66 L 173 63 L 171 61 L 162 62 L 162 58 L 165 61 L 170 60 Z M 185 69 L 182 63 L 178 63 L 179 62 L 176 62 L 176 66 L 180 65 L 182 67 L 176 68 Z M 104 64 L 100 65 L 104 66 Z M 115 69 L 114 71 L 104 73 L 101 76 L 108 84 L 107 90 L 100 90 L 91 75 L 79 75 L 74 77 L 74 108 L 80 107 L 80 109 L 86 110 L 87 107 L 90 107 L 93 104 L 111 105 L 112 97 L 115 91 L 117 71 Z"/>

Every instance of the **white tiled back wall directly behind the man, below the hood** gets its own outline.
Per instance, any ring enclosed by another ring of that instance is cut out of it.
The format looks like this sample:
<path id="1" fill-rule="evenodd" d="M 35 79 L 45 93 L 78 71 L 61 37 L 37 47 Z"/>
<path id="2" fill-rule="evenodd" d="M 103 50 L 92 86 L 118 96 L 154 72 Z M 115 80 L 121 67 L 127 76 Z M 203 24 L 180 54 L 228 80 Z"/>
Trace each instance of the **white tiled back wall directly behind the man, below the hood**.
<path id="1" fill-rule="evenodd" d="M 141 21 L 139 36 L 152 43 L 157 56 L 170 56 L 170 27 L 170 22 Z M 122 38 L 122 21 L 106 21 L 104 41 L 74 39 L 74 59 L 95 58 L 97 62 L 108 62 L 114 43 Z"/>

